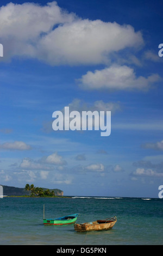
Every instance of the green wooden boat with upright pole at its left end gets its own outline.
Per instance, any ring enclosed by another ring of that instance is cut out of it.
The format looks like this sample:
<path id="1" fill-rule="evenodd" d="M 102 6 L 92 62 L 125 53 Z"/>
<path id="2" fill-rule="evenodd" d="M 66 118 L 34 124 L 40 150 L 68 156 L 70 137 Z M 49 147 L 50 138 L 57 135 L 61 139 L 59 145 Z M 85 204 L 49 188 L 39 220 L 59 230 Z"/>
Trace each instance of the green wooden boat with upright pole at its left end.
<path id="1" fill-rule="evenodd" d="M 67 215 L 59 218 L 43 218 L 43 224 L 45 225 L 65 225 L 75 223 L 78 214 Z"/>

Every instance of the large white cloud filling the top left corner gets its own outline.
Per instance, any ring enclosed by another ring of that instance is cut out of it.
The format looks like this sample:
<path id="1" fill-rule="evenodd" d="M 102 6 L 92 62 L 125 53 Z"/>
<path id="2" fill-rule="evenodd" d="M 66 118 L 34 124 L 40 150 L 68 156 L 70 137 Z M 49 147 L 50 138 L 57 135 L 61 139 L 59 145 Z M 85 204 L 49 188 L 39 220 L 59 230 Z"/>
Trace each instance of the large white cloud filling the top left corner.
<path id="1" fill-rule="evenodd" d="M 20 40 L 36 38 L 58 23 L 71 21 L 71 15 L 62 13 L 57 2 L 42 7 L 34 3 L 9 3 L 1 7 L 0 14 L 1 36 L 10 35 Z"/>

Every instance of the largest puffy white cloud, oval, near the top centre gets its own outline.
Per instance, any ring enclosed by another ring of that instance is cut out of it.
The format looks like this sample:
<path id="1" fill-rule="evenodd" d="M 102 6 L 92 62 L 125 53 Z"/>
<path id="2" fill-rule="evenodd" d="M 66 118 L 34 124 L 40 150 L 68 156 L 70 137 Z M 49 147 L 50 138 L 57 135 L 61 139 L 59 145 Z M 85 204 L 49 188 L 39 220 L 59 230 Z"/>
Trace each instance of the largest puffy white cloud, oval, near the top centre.
<path id="1" fill-rule="evenodd" d="M 129 25 L 76 19 L 42 37 L 39 57 L 54 65 L 106 63 L 110 52 L 142 44 L 141 33 Z"/>

